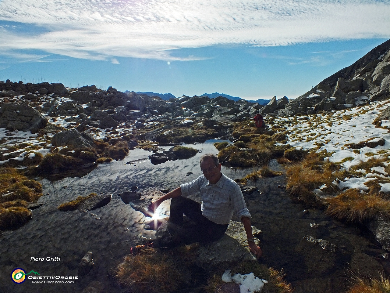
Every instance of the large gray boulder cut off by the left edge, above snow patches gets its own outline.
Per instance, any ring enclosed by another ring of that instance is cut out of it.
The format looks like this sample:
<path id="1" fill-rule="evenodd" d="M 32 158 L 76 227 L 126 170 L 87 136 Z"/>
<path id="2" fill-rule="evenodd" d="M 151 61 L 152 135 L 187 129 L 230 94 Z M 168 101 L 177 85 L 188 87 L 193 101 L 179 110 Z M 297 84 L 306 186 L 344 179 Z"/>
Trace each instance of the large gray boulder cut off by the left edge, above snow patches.
<path id="1" fill-rule="evenodd" d="M 0 108 L 0 127 L 8 130 L 37 132 L 48 120 L 37 110 L 24 104 L 4 103 Z"/>

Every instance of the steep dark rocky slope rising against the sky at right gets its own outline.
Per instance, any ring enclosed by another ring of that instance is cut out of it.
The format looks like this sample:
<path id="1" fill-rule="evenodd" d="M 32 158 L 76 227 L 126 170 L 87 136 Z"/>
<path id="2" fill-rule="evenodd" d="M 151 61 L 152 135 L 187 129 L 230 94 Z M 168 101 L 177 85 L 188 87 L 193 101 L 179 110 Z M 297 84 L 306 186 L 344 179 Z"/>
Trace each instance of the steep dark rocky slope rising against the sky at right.
<path id="1" fill-rule="evenodd" d="M 278 116 L 342 110 L 390 98 L 390 40 L 278 110 Z"/>

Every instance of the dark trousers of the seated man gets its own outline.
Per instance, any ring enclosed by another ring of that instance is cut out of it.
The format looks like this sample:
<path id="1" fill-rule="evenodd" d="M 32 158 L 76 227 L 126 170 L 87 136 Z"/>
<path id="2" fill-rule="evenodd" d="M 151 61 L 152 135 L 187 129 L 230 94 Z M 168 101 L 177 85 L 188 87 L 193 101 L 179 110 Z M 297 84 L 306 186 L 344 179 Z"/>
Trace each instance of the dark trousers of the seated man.
<path id="1" fill-rule="evenodd" d="M 183 227 L 183 215 L 190 218 L 195 225 Z M 185 244 L 218 240 L 225 234 L 228 225 L 214 223 L 203 216 L 199 202 L 182 196 L 172 198 L 169 229 Z"/>

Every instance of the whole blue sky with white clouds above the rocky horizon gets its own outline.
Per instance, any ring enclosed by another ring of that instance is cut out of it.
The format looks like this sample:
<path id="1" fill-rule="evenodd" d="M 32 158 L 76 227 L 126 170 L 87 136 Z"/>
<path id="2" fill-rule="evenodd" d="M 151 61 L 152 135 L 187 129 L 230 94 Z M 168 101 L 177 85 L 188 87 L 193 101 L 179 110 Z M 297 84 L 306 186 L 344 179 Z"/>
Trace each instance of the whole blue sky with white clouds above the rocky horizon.
<path id="1" fill-rule="evenodd" d="M 390 1 L 0 0 L 0 80 L 295 98 L 390 38 Z"/>

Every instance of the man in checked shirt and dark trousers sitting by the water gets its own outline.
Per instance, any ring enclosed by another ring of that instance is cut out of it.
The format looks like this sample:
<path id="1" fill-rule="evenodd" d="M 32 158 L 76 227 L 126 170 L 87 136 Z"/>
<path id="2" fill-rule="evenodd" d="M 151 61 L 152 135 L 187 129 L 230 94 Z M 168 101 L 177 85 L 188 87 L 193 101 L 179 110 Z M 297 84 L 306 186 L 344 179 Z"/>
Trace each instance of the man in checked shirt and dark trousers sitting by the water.
<path id="1" fill-rule="evenodd" d="M 243 222 L 248 237 L 249 250 L 261 256 L 261 249 L 254 242 L 250 215 L 240 187 L 234 180 L 221 172 L 218 157 L 206 154 L 200 158 L 200 169 L 203 175 L 190 183 L 168 192 L 152 202 L 149 209 L 156 211 L 158 206 L 169 198 L 169 236 L 155 239 L 153 247 L 174 247 L 183 243 L 216 241 L 227 229 L 233 214 Z M 202 204 L 187 198 L 188 195 L 201 193 Z M 183 228 L 183 214 L 196 223 L 194 227 Z"/>

